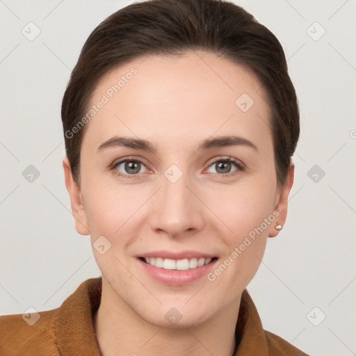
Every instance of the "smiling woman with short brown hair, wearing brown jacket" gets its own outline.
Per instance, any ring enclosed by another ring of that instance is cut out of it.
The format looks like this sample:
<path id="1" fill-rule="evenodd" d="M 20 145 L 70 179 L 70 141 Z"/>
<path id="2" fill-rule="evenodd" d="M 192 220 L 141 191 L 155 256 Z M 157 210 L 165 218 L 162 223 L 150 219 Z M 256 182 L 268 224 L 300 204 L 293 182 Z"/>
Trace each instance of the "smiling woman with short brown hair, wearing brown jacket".
<path id="1" fill-rule="evenodd" d="M 245 290 L 285 223 L 299 136 L 265 26 L 225 1 L 127 6 L 84 44 L 62 120 L 102 277 L 36 321 L 2 316 L 0 355 L 306 355 Z"/>

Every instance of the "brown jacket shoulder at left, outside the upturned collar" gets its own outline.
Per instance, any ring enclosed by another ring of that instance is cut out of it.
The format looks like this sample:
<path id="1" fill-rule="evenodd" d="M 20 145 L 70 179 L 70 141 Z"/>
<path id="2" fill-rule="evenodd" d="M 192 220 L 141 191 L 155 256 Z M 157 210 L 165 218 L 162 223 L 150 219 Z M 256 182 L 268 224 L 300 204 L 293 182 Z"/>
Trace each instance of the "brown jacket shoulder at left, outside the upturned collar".
<path id="1" fill-rule="evenodd" d="M 57 309 L 0 316 L 0 356 L 60 355 L 56 346 Z"/>

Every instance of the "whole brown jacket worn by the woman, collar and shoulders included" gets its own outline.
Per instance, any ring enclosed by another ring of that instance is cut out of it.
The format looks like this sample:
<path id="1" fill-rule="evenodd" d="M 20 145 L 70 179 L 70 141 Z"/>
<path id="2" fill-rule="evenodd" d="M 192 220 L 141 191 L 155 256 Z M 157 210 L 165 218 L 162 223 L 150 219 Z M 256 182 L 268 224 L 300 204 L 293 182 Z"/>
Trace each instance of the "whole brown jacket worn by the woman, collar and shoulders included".
<path id="1" fill-rule="evenodd" d="M 39 312 L 38 321 L 35 313 L 0 316 L 0 356 L 100 356 L 92 322 L 101 296 L 102 277 L 90 278 L 60 307 Z M 236 343 L 235 356 L 307 356 L 263 329 L 246 290 L 236 323 Z"/>

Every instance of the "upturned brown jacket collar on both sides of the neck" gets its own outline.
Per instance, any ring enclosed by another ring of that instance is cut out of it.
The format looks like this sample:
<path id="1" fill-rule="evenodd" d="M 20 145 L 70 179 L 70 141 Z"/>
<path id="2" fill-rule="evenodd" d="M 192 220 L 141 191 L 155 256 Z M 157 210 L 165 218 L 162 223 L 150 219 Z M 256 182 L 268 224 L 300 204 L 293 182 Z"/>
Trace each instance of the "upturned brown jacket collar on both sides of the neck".
<path id="1" fill-rule="evenodd" d="M 81 283 L 58 308 L 57 344 L 61 355 L 101 356 L 93 318 L 102 297 L 102 277 Z M 268 343 L 257 309 L 245 289 L 236 323 L 237 350 L 234 356 L 268 355 Z"/>

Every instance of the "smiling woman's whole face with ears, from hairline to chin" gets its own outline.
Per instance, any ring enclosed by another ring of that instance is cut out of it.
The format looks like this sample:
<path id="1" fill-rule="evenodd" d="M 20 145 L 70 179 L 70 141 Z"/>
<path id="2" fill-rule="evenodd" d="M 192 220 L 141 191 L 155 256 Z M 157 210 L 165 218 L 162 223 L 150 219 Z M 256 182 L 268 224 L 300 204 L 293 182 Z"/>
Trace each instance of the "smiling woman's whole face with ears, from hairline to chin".
<path id="1" fill-rule="evenodd" d="M 197 53 L 108 72 L 90 102 L 104 104 L 86 124 L 80 189 L 63 161 L 103 298 L 160 327 L 174 327 L 172 316 L 179 327 L 199 325 L 238 305 L 284 223 L 293 183 L 291 170 L 277 186 L 260 83 Z"/>

